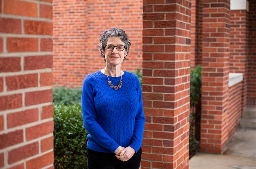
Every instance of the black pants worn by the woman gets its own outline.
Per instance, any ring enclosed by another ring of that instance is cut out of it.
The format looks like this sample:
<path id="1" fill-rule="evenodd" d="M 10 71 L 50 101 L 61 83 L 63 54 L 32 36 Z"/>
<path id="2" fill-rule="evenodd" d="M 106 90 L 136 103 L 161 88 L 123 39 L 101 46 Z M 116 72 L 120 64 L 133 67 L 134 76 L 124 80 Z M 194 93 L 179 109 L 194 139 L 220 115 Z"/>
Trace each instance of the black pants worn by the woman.
<path id="1" fill-rule="evenodd" d="M 126 162 L 117 159 L 114 153 L 102 153 L 87 148 L 88 169 L 139 169 L 141 148 Z"/>

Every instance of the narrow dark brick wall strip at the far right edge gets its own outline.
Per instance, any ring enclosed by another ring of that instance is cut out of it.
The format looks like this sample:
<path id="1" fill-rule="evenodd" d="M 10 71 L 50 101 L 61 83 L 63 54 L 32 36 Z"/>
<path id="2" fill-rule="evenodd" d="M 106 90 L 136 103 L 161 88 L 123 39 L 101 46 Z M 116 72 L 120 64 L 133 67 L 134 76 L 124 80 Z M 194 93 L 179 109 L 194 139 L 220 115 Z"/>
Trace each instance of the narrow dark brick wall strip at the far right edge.
<path id="1" fill-rule="evenodd" d="M 256 1 L 249 4 L 247 106 L 256 107 Z"/>

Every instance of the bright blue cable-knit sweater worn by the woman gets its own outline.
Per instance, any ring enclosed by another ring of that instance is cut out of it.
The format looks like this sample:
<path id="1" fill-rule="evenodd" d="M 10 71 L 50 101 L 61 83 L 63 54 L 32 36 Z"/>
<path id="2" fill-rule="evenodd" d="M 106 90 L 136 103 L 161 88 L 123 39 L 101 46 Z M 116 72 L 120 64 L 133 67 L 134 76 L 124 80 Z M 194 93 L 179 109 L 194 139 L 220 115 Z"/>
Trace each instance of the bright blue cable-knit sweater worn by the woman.
<path id="1" fill-rule="evenodd" d="M 114 86 L 119 77 L 108 76 Z M 145 117 L 139 79 L 124 71 L 122 86 L 114 90 L 101 71 L 88 74 L 83 81 L 83 124 L 89 132 L 87 148 L 114 153 L 119 147 L 132 147 L 136 152 L 142 145 Z"/>

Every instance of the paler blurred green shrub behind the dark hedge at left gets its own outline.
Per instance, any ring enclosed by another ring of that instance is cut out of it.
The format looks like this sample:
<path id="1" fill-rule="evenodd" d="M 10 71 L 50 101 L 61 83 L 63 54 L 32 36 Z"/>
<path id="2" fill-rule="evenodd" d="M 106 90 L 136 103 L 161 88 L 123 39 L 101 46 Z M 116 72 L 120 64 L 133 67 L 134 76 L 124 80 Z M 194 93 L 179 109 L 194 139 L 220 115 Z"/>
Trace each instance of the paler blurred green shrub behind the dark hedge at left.
<path id="1" fill-rule="evenodd" d="M 81 103 L 82 89 L 81 88 L 63 88 L 56 87 L 53 88 L 53 103 L 64 104 L 64 105 L 74 105 L 76 103 Z"/>

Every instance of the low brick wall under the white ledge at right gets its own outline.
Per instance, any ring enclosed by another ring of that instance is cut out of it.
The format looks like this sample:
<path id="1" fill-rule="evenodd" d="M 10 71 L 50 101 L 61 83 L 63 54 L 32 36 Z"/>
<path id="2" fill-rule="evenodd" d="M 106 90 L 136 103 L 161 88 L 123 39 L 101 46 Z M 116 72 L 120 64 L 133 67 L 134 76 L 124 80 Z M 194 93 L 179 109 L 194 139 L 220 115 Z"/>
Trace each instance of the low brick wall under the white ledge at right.
<path id="1" fill-rule="evenodd" d="M 229 106 L 228 106 L 228 139 L 234 134 L 242 115 L 242 81 L 229 87 Z"/>

